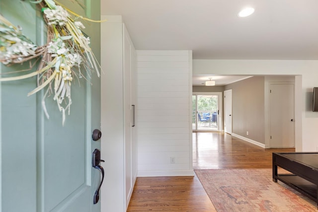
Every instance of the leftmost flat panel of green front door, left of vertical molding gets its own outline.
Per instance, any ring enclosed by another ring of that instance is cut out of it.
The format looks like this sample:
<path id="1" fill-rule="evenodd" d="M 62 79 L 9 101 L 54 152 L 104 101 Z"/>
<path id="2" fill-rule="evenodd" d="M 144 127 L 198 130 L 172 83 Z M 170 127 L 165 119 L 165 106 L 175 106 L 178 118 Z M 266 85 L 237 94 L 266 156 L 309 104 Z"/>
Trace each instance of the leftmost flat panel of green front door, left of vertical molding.
<path id="1" fill-rule="evenodd" d="M 25 10 L 32 10 L 30 4 L 19 0 L 1 0 L 0 14 L 13 24 L 22 23 L 25 33 L 35 40 L 35 13 L 18 12 L 13 4 Z M 11 5 L 11 6 L 10 6 Z M 25 27 L 25 26 L 28 27 Z M 0 64 L 0 72 L 27 69 L 24 64 L 5 67 Z M 34 71 L 34 69 L 33 69 Z M 0 82 L 0 211 L 2 212 L 35 212 L 36 209 L 36 96 L 27 97 L 33 90 L 36 79 Z M 21 120 L 24 120 L 23 122 Z M 17 204 L 19 200 L 19 204 Z M 21 208 L 21 205 L 23 206 Z"/>

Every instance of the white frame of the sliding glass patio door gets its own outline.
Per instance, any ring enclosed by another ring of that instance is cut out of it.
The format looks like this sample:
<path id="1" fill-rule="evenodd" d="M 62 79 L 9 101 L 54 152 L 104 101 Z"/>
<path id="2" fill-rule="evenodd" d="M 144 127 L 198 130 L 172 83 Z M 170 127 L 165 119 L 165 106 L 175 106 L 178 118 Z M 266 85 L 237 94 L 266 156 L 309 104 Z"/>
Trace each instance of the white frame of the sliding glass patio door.
<path id="1" fill-rule="evenodd" d="M 223 98 L 222 98 L 222 92 L 192 92 L 192 96 L 193 95 L 210 95 L 210 96 L 218 96 L 218 110 L 219 110 L 219 114 L 218 114 L 218 129 L 217 130 L 193 130 L 192 132 L 221 132 L 222 131 L 222 126 L 223 126 Z M 197 98 L 196 98 L 197 101 Z M 191 105 L 192 105 L 192 101 L 191 101 Z M 195 105 L 195 112 L 197 113 L 198 111 L 198 105 Z M 192 114 L 192 108 L 191 108 L 191 114 Z M 198 117 L 197 115 L 195 115 L 195 120 L 196 120 L 196 129 L 198 128 Z M 191 122 L 192 123 L 192 122 Z M 192 127 L 192 124 L 191 124 Z"/>

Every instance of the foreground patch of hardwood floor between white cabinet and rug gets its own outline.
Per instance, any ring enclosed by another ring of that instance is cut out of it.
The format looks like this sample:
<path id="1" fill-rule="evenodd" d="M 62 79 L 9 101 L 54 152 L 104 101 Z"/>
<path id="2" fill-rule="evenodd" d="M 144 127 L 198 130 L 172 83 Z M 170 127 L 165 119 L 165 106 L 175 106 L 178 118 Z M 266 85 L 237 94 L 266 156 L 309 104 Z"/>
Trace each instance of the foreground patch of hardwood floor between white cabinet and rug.
<path id="1" fill-rule="evenodd" d="M 195 177 L 138 177 L 128 212 L 216 212 Z"/>

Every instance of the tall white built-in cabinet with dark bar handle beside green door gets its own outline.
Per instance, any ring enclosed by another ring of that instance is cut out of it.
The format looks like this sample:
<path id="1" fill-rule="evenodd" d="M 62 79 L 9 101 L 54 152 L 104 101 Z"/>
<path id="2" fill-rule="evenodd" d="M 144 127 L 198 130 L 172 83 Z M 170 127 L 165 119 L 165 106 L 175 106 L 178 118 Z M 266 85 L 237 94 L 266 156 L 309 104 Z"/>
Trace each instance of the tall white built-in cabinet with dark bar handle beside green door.
<path id="1" fill-rule="evenodd" d="M 102 130 L 108 139 L 102 143 L 102 157 L 111 163 L 106 165 L 108 182 L 102 187 L 105 197 L 102 211 L 121 212 L 127 210 L 137 175 L 137 134 L 136 127 L 132 127 L 132 105 L 136 106 L 136 52 L 125 25 L 112 23 L 112 17 L 105 18 L 108 23 L 101 25 L 105 35 L 101 48 L 102 69 L 107 74 L 102 77 L 101 95 L 105 108 Z"/>

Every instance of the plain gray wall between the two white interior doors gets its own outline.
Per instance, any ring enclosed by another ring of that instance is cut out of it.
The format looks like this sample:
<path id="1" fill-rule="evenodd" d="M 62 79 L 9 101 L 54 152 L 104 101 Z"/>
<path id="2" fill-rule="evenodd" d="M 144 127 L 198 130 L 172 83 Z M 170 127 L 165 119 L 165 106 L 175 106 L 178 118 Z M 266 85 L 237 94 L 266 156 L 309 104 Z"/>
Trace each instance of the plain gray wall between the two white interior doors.
<path id="1" fill-rule="evenodd" d="M 263 144 L 265 144 L 264 81 L 264 76 L 253 76 L 224 86 L 224 90 L 232 89 L 233 133 Z"/>

